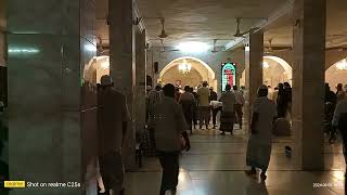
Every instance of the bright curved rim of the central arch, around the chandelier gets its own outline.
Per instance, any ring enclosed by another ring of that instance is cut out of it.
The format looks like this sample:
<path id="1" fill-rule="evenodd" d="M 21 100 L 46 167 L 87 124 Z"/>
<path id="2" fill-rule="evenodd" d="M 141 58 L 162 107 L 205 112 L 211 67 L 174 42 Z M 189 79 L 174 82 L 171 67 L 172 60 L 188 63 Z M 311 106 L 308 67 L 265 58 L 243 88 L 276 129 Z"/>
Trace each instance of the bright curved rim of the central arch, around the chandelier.
<path id="1" fill-rule="evenodd" d="M 162 72 L 159 73 L 159 77 L 158 77 L 158 82 L 163 81 L 164 76 L 166 75 L 166 73 L 168 73 L 169 70 L 171 70 L 174 67 L 178 66 L 178 63 L 180 61 L 184 61 L 184 60 L 190 60 L 190 61 L 194 61 L 196 62 L 196 64 L 193 66 L 192 68 L 194 68 L 202 77 L 202 81 L 208 81 L 209 86 L 214 87 L 216 90 L 218 88 L 217 86 L 217 79 L 216 79 L 216 74 L 215 72 L 210 68 L 210 66 L 208 64 L 206 64 L 204 61 L 196 58 L 196 57 L 192 57 L 192 56 L 184 56 L 184 57 L 179 57 L 176 58 L 174 61 L 171 61 L 169 64 L 167 64 Z"/>

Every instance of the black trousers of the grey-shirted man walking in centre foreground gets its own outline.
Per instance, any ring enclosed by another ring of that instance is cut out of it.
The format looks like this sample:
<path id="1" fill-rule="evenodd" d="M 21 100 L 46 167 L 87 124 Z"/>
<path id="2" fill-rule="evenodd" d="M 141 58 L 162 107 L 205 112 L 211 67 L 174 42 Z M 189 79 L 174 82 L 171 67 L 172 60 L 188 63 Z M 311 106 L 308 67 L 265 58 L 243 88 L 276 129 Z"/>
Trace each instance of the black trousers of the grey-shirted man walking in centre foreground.
<path id="1" fill-rule="evenodd" d="M 179 152 L 158 152 L 160 165 L 163 168 L 160 195 L 165 191 L 176 191 L 179 174 Z"/>

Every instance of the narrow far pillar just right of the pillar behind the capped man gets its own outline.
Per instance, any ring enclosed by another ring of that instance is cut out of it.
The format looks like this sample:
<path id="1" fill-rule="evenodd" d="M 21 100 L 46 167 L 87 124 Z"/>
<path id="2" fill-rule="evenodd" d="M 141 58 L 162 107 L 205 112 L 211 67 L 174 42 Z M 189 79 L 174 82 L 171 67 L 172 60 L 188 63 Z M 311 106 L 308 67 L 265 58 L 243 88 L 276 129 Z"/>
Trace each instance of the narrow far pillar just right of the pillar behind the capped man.
<path id="1" fill-rule="evenodd" d="M 136 125 L 137 131 L 143 131 L 145 125 L 146 50 L 145 30 L 136 32 Z"/>

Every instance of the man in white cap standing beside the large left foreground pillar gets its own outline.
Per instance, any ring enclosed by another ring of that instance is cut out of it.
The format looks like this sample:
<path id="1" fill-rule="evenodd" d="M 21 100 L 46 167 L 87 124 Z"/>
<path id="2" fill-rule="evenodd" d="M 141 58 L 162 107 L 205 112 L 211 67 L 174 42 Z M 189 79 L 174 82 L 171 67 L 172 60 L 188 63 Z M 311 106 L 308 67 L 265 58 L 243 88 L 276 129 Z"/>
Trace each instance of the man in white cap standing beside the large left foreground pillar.
<path id="1" fill-rule="evenodd" d="M 130 115 L 124 94 L 108 75 L 101 77 L 98 93 L 99 164 L 106 194 L 124 194 L 121 147 Z"/>

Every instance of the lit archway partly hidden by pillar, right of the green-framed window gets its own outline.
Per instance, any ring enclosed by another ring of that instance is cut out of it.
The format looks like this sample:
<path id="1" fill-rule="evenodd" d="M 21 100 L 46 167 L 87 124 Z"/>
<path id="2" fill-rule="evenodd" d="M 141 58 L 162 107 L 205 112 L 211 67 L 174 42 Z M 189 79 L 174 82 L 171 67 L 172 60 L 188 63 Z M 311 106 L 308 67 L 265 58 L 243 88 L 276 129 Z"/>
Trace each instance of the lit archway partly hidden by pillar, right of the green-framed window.
<path id="1" fill-rule="evenodd" d="M 244 70 L 242 73 L 240 86 L 245 86 L 246 83 L 245 74 Z M 292 66 L 283 58 L 273 55 L 264 56 L 262 81 L 265 84 L 274 88 L 280 82 L 292 83 Z"/>

